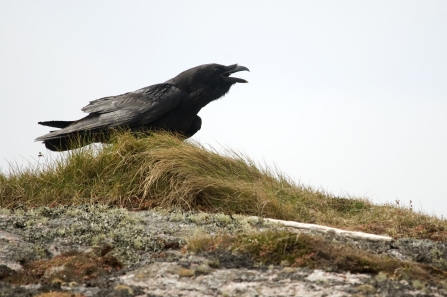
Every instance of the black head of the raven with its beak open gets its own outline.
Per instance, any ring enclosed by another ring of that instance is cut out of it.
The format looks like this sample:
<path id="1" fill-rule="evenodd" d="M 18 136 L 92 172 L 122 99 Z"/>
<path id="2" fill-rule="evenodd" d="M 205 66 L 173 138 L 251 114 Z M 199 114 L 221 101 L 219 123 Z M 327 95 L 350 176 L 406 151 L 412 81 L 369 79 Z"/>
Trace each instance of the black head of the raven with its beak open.
<path id="1" fill-rule="evenodd" d="M 250 71 L 247 67 L 237 64 L 205 64 L 183 71 L 168 82 L 185 91 L 203 94 L 200 97 L 206 97 L 209 102 L 225 95 L 235 83 L 247 83 L 245 79 L 231 76 L 245 70 Z"/>

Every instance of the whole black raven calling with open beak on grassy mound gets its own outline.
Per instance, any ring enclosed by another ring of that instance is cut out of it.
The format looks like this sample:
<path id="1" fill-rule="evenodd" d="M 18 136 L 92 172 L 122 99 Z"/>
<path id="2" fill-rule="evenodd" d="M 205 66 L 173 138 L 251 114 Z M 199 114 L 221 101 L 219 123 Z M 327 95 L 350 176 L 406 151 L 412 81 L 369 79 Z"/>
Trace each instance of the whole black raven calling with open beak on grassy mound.
<path id="1" fill-rule="evenodd" d="M 176 77 L 118 96 L 91 101 L 82 111 L 89 113 L 77 121 L 47 121 L 40 125 L 61 128 L 36 138 L 52 151 L 65 151 L 93 142 L 106 142 L 116 128 L 131 131 L 165 130 L 185 138 L 202 126 L 197 115 L 208 103 L 225 95 L 235 83 L 247 81 L 230 75 L 248 70 L 237 64 L 205 64 L 183 71 Z M 82 144 L 74 144 L 73 137 Z"/>

